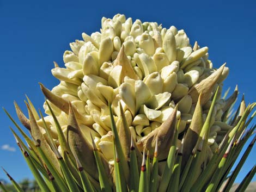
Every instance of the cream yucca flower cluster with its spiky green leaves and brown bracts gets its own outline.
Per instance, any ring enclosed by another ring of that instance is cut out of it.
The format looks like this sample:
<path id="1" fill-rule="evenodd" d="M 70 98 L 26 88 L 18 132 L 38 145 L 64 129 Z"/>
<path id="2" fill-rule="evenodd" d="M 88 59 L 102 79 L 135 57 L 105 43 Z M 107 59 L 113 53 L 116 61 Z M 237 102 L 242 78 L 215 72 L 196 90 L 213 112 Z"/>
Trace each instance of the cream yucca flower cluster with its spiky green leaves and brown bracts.
<path id="1" fill-rule="evenodd" d="M 215 69 L 208 47 L 174 26 L 120 14 L 101 25 L 70 44 L 65 67 L 54 62 L 57 86 L 40 84 L 47 116 L 29 98 L 29 118 L 15 103 L 28 146 L 11 130 L 42 191 L 229 191 L 255 141 L 229 176 L 255 103 L 231 111 L 228 67 Z"/>

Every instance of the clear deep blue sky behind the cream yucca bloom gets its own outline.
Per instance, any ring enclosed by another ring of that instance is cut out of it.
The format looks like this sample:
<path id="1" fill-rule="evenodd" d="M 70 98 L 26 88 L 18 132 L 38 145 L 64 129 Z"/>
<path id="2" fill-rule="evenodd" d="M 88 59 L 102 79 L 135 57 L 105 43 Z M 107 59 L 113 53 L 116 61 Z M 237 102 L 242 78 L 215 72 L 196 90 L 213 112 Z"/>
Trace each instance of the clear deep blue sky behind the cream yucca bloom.
<path id="1" fill-rule="evenodd" d="M 82 32 L 100 30 L 101 17 L 117 13 L 164 27 L 185 29 L 191 44 L 209 47 L 215 67 L 227 62 L 229 77 L 224 90 L 239 85 L 246 102 L 255 101 L 256 1 L 0 1 L 0 106 L 16 118 L 13 101 L 25 110 L 25 94 L 42 109 L 44 97 L 38 82 L 52 88 L 53 60 L 63 66 L 69 43 L 82 39 Z M 18 181 L 32 174 L 23 160 L 0 110 L 0 165 Z M 255 123 L 255 121 L 254 121 Z M 16 149 L 16 151 L 15 151 Z M 255 164 L 254 146 L 237 181 Z M 7 179 L 2 171 L 0 178 Z M 254 181 L 256 178 L 254 177 Z"/>

